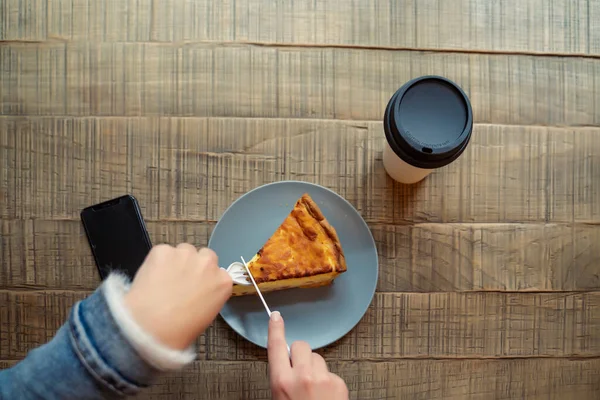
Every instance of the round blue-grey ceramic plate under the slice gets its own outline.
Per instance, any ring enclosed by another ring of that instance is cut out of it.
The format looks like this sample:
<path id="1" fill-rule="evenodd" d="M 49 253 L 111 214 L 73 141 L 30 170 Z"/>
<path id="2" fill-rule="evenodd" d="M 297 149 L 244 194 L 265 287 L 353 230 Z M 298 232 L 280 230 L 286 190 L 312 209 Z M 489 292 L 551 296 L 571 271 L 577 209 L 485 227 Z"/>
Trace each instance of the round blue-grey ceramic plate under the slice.
<path id="1" fill-rule="evenodd" d="M 377 250 L 360 214 L 342 197 L 305 182 L 277 182 L 254 189 L 236 200 L 215 227 L 208 246 L 227 267 L 240 256 L 250 260 L 308 193 L 338 232 L 348 270 L 329 287 L 291 289 L 265 294 L 271 310 L 280 311 L 288 343 L 304 340 L 313 349 L 348 333 L 363 317 L 377 284 Z M 247 340 L 266 347 L 268 316 L 258 296 L 232 298 L 221 316 Z"/>

